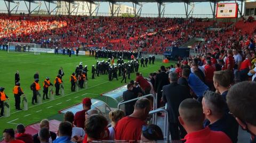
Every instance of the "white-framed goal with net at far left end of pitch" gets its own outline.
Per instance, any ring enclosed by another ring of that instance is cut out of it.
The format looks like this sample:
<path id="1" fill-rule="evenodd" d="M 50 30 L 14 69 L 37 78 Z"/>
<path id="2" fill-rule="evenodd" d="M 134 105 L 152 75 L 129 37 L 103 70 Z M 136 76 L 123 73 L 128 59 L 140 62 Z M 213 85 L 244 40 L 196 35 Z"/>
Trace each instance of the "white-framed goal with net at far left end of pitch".
<path id="1" fill-rule="evenodd" d="M 18 42 L 9 42 L 8 43 L 8 53 L 31 53 L 38 55 L 40 54 L 39 49 L 41 48 L 40 44 L 35 43 L 18 43 Z"/>

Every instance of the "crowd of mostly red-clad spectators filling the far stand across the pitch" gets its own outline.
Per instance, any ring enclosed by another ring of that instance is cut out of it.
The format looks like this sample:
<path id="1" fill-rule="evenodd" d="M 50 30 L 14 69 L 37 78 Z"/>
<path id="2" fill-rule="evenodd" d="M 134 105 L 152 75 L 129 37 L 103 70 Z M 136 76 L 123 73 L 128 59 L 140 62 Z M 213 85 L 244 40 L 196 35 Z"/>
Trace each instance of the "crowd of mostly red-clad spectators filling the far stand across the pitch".
<path id="1" fill-rule="evenodd" d="M 117 51 L 164 52 L 205 35 L 214 21 L 202 19 L 0 15 L 0 38 L 42 47 L 98 47 Z"/>

